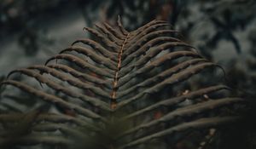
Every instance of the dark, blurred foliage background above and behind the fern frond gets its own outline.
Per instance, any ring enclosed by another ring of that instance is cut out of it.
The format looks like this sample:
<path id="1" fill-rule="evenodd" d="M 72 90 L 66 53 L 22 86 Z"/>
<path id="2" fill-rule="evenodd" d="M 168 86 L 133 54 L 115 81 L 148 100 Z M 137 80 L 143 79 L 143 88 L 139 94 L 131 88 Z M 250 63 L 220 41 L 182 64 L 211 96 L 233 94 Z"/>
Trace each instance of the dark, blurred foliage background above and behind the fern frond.
<path id="1" fill-rule="evenodd" d="M 255 0 L 0 0 L 0 81 L 88 37 L 84 26 L 114 26 L 118 15 L 128 31 L 154 19 L 169 21 L 183 41 L 224 67 L 232 88 L 256 97 Z M 243 142 L 236 148 L 256 146 L 255 130 L 230 136 L 230 143 Z"/>

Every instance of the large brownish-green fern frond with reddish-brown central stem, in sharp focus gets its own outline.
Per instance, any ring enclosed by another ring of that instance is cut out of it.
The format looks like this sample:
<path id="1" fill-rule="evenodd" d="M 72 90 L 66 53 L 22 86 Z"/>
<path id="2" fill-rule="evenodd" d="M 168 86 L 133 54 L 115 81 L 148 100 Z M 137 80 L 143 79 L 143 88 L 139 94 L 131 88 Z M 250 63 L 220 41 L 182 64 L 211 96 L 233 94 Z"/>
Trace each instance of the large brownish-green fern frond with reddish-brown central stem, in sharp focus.
<path id="1" fill-rule="evenodd" d="M 0 146 L 170 148 L 196 130 L 205 135 L 240 119 L 229 109 L 242 99 L 213 74 L 195 83 L 219 66 L 168 26 L 85 27 L 96 40 L 79 39 L 45 65 L 10 72 L 1 82 Z M 36 102 L 24 106 L 25 97 Z"/>

